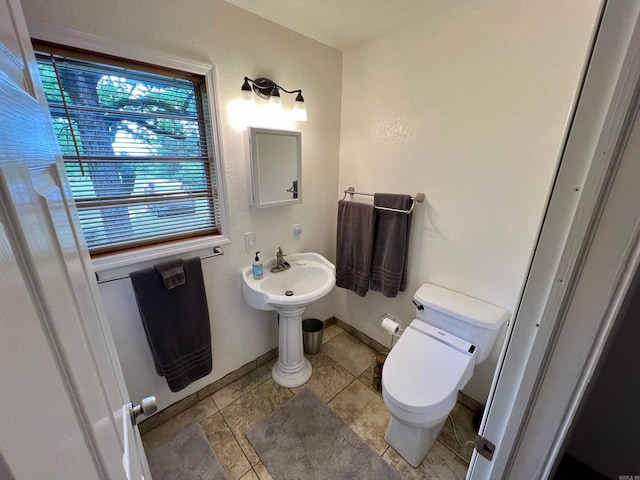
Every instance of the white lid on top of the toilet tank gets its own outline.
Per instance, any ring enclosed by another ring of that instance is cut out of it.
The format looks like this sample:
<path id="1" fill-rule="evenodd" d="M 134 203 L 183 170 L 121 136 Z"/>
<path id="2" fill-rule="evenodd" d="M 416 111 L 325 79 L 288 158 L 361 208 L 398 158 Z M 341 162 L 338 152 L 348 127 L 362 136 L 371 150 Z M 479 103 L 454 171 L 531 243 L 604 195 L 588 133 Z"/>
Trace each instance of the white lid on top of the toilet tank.
<path id="1" fill-rule="evenodd" d="M 503 308 L 431 283 L 423 284 L 413 298 L 424 307 L 489 330 L 497 330 L 509 318 Z"/>

